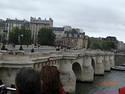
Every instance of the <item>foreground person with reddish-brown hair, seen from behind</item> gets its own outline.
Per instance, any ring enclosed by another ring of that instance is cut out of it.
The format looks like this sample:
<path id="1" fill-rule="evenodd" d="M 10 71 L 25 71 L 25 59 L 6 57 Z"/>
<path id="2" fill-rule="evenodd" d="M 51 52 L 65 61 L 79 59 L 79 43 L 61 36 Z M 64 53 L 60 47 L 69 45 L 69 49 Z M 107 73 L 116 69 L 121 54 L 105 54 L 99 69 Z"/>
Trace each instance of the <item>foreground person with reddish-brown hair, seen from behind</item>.
<path id="1" fill-rule="evenodd" d="M 41 69 L 42 94 L 66 94 L 60 81 L 59 71 L 55 66 L 44 66 Z"/>

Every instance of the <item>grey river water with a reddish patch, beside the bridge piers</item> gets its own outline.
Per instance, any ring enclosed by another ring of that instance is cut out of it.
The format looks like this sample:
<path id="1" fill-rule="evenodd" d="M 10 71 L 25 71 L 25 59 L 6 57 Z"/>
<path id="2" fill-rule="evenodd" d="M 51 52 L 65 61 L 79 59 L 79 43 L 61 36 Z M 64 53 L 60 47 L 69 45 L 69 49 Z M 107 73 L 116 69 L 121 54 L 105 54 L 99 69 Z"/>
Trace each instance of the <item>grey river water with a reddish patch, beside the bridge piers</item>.
<path id="1" fill-rule="evenodd" d="M 118 94 L 118 89 L 125 86 L 125 71 L 105 72 L 94 79 L 92 83 L 77 82 L 75 94 Z"/>

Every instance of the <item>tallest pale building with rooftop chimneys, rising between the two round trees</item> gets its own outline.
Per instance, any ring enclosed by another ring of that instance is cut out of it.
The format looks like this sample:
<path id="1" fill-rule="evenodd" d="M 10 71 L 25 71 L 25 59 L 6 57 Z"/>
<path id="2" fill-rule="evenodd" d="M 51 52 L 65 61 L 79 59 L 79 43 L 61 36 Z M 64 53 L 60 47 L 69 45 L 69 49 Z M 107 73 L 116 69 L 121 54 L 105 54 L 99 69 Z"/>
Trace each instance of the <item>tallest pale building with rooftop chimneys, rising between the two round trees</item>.
<path id="1" fill-rule="evenodd" d="M 30 18 L 30 29 L 32 32 L 32 39 L 34 44 L 37 43 L 37 36 L 38 36 L 38 31 L 41 28 L 52 28 L 53 27 L 53 20 L 52 18 L 49 18 L 49 20 L 42 20 L 40 17 L 37 18 Z"/>

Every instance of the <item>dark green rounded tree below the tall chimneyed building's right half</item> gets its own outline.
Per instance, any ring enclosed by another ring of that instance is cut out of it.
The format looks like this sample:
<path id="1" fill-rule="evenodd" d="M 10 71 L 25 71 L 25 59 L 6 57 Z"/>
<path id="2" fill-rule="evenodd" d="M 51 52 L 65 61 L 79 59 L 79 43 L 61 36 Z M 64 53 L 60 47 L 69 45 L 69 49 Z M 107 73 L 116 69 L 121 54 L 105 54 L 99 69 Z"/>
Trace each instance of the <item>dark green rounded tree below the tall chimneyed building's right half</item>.
<path id="1" fill-rule="evenodd" d="M 50 28 L 42 28 L 38 32 L 38 43 L 41 45 L 54 45 L 55 34 Z"/>

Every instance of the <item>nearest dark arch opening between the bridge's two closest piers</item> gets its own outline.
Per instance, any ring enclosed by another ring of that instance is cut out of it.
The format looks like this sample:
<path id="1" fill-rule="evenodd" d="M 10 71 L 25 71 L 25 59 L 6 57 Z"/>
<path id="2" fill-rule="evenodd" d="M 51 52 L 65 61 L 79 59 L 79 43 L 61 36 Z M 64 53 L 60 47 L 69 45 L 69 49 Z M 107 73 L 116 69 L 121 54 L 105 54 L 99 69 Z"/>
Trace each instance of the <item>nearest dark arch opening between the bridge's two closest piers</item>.
<path id="1" fill-rule="evenodd" d="M 81 65 L 78 62 L 73 63 L 72 64 L 72 70 L 75 73 L 76 80 L 80 80 L 81 73 L 82 73 Z"/>

